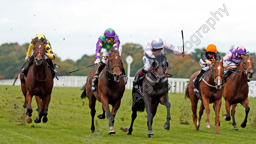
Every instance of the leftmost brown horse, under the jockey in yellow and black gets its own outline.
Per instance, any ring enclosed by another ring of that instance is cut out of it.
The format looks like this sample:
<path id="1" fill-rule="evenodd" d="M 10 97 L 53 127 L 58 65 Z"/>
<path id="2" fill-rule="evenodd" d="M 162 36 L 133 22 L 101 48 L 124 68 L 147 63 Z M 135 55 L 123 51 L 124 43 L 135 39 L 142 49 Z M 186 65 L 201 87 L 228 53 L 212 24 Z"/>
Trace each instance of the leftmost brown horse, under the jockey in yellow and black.
<path id="1" fill-rule="evenodd" d="M 34 122 L 41 122 L 43 116 L 42 121 L 47 122 L 47 108 L 51 100 L 53 87 L 52 73 L 45 61 L 45 40 L 44 42 L 36 42 L 35 40 L 32 40 L 32 42 L 34 43 L 34 64 L 29 68 L 26 81 L 24 75 L 20 73 L 21 90 L 25 96 L 25 103 L 27 104 L 27 122 L 32 122 L 31 116 L 33 110 L 31 101 L 34 95 L 37 95 L 42 100 L 41 110 L 38 114 L 39 118 L 36 118 Z"/>

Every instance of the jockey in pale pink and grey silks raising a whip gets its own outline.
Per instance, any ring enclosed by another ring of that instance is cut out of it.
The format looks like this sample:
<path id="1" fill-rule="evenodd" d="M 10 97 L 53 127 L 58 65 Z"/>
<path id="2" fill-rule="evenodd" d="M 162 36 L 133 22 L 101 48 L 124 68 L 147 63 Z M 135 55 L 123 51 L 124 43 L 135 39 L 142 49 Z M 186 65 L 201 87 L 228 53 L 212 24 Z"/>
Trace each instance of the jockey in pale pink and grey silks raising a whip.
<path id="1" fill-rule="evenodd" d="M 164 54 L 166 50 L 171 51 L 176 55 L 185 56 L 185 53 L 183 53 L 183 51 L 181 51 L 174 45 L 171 45 L 169 42 L 163 41 L 162 39 L 155 37 L 146 45 L 144 56 L 142 58 L 144 67 L 140 71 L 140 74 L 137 76 L 137 78 L 133 81 L 133 86 L 140 85 L 142 80 L 144 79 L 143 75 L 145 75 L 150 69 L 155 59 L 155 55 L 153 54 L 153 52 Z M 168 85 L 168 91 L 169 89 L 170 86 Z"/>

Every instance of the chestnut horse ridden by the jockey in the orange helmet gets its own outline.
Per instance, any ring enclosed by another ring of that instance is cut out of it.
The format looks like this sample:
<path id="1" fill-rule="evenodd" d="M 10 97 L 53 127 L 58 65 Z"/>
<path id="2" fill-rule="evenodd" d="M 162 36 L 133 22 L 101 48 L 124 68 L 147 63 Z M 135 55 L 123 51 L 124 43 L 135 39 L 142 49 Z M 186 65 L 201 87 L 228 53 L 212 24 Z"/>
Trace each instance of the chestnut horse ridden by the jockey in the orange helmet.
<path id="1" fill-rule="evenodd" d="M 205 128 L 211 128 L 209 120 L 209 103 L 215 103 L 215 125 L 216 125 L 216 134 L 219 134 L 219 112 L 221 107 L 221 95 L 222 95 L 222 77 L 223 77 L 224 67 L 223 67 L 223 58 L 220 61 L 215 61 L 213 58 L 213 65 L 211 70 L 207 71 L 202 79 L 203 82 L 198 84 L 198 91 L 202 97 L 201 107 L 199 111 L 199 118 L 197 123 L 197 103 L 198 96 L 194 93 L 194 83 L 193 79 L 196 77 L 198 72 L 195 72 L 189 79 L 189 83 L 186 86 L 185 98 L 190 98 L 191 108 L 193 112 L 193 122 L 195 125 L 196 132 L 200 126 L 201 116 L 206 109 L 206 125 Z"/>

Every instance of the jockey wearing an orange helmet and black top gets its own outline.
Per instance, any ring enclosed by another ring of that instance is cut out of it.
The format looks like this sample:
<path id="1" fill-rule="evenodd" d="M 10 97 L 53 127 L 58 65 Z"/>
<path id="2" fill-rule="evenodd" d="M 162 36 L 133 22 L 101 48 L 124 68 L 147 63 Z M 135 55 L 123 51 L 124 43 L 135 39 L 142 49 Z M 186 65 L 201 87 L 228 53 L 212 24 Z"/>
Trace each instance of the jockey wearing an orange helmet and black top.
<path id="1" fill-rule="evenodd" d="M 198 78 L 200 74 L 203 74 L 204 72 L 208 71 L 210 69 L 210 66 L 213 61 L 213 56 L 216 61 L 220 61 L 220 55 L 219 52 L 216 49 L 216 46 L 213 44 L 210 44 L 201 52 L 201 59 L 199 61 L 200 66 L 202 67 L 201 71 L 197 74 L 197 76 L 194 78 L 194 92 L 198 93 L 198 90 L 196 86 L 198 85 Z M 204 63 L 207 63 L 207 65 L 203 65 Z M 222 79 L 223 80 L 223 79 Z"/>

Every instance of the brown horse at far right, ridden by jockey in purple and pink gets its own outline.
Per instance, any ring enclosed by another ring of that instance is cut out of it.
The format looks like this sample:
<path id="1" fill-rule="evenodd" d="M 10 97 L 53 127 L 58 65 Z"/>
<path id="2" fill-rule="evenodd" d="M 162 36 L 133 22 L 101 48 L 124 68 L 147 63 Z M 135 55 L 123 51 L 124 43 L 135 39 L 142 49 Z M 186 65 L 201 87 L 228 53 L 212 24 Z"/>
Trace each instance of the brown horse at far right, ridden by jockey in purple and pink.
<path id="1" fill-rule="evenodd" d="M 230 106 L 232 105 L 231 116 L 233 120 L 233 129 L 238 130 L 235 122 L 235 108 L 238 103 L 245 107 L 245 119 L 244 122 L 241 123 L 241 127 L 246 127 L 247 116 L 250 111 L 250 107 L 248 105 L 248 82 L 247 76 L 251 78 L 253 76 L 253 61 L 252 56 L 244 56 L 241 55 L 242 61 L 237 70 L 239 70 L 241 75 L 236 75 L 235 73 L 231 73 L 229 77 L 227 77 L 224 91 L 222 96 L 224 97 L 226 103 L 226 112 L 227 114 L 223 114 L 226 121 L 230 121 Z"/>

